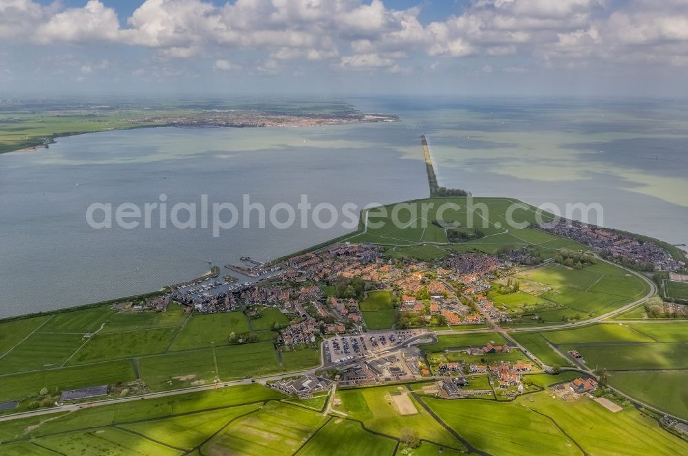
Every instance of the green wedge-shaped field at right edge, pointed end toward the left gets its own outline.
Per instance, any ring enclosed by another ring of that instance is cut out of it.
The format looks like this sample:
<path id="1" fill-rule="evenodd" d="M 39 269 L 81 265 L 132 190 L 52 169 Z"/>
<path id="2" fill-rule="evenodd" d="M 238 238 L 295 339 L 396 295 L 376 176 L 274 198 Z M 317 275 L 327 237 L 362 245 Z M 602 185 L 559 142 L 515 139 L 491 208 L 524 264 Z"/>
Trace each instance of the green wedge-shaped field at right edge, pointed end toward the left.
<path id="1" fill-rule="evenodd" d="M 645 404 L 688 420 L 688 371 L 613 372 L 610 384 Z"/>

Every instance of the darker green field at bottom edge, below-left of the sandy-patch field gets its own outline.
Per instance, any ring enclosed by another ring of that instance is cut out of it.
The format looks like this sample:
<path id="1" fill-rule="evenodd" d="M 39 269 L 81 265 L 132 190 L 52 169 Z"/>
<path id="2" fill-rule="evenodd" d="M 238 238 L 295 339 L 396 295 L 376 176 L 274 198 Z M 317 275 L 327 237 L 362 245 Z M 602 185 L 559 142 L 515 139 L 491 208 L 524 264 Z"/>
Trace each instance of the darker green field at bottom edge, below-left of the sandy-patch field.
<path id="1" fill-rule="evenodd" d="M 397 442 L 369 433 L 361 423 L 332 418 L 301 448 L 297 456 L 391 456 Z"/>

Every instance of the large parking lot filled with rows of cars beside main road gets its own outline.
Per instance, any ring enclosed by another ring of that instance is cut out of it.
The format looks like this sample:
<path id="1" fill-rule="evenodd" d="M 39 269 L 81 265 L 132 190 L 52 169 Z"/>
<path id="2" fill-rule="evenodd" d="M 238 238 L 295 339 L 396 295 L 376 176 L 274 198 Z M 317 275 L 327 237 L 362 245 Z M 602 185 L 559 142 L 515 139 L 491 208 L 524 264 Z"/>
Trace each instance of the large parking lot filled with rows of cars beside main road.
<path id="1" fill-rule="evenodd" d="M 378 352 L 398 347 L 418 334 L 422 334 L 422 331 L 375 331 L 332 337 L 323 341 L 325 362 L 337 365 L 354 359 L 364 359 Z"/>

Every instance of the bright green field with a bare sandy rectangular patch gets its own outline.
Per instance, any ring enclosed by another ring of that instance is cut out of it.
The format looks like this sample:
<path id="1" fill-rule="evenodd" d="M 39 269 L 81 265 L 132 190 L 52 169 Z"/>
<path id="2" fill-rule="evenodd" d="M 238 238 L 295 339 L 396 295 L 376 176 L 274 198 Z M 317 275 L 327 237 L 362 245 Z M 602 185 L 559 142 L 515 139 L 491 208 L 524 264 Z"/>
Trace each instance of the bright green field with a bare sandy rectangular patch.
<path id="1" fill-rule="evenodd" d="M 416 408 L 416 413 L 409 415 L 399 413 L 394 403 L 394 396 L 402 394 L 408 395 Z M 348 418 L 362 421 L 365 429 L 398 438 L 402 437 L 403 429 L 414 429 L 421 439 L 430 440 L 442 446 L 462 448 L 461 442 L 458 442 L 440 423 L 433 420 L 405 387 L 339 390 L 337 397 L 341 400 L 341 405 L 336 409 L 346 413 Z"/>

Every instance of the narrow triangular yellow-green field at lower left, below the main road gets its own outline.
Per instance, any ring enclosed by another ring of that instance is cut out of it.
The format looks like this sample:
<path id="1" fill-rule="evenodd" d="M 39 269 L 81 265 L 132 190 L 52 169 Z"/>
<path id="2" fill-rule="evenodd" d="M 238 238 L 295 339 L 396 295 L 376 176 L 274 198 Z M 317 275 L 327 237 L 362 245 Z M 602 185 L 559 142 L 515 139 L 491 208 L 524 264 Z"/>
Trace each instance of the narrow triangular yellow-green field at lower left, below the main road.
<path id="1" fill-rule="evenodd" d="M 235 418 L 250 413 L 261 407 L 261 403 L 240 405 L 228 409 L 203 411 L 162 420 L 151 420 L 131 424 L 122 424 L 122 429 L 129 429 L 158 442 L 191 450 L 210 438 L 222 426 Z"/>

